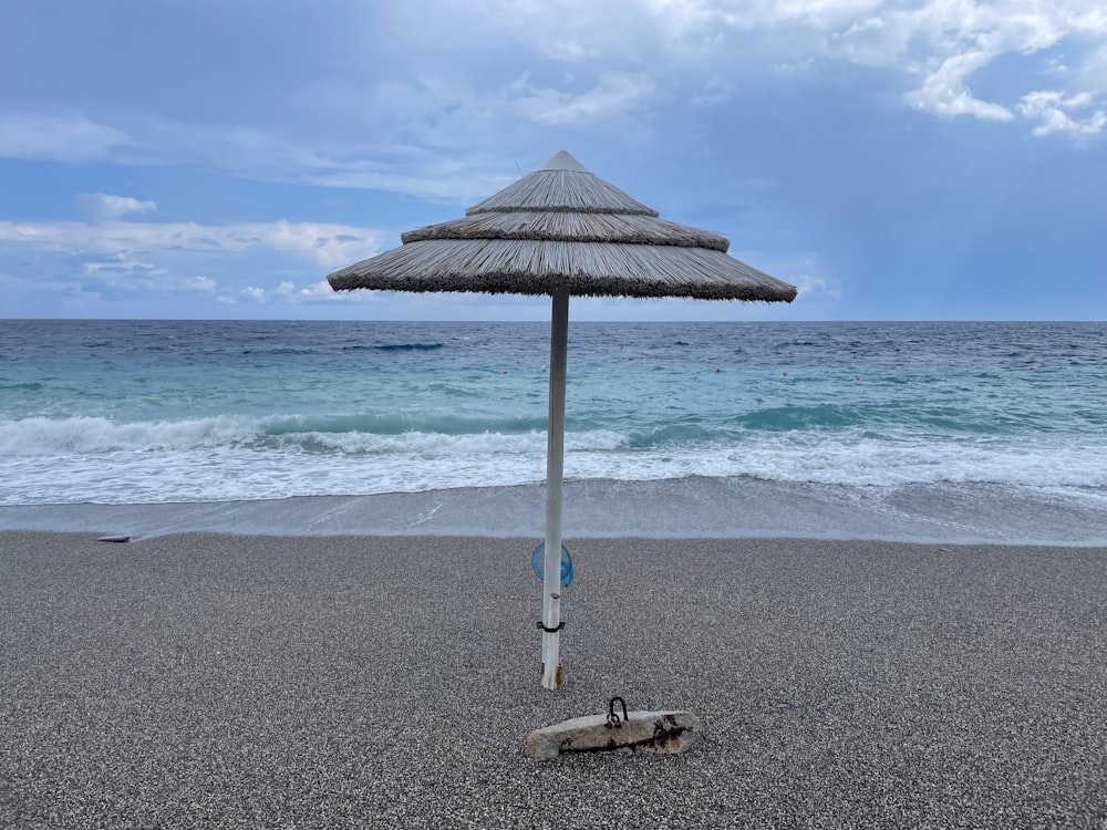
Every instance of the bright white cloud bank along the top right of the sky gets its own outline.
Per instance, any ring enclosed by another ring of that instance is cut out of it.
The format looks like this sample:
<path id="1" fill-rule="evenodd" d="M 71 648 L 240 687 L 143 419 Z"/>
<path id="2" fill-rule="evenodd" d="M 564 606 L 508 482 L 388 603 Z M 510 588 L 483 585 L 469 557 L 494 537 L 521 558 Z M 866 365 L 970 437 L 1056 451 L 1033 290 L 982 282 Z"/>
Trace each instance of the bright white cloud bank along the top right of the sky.
<path id="1" fill-rule="evenodd" d="M 457 3 L 446 9 L 462 13 Z M 995 100 L 975 94 L 973 82 L 1001 59 L 1027 61 L 1059 46 L 1064 63 L 1058 55 L 1045 62 L 1054 72 L 1072 68 L 1072 82 L 1084 84 L 1061 90 L 1064 98 L 1107 93 L 1101 0 L 497 0 L 467 4 L 465 13 L 480 18 L 483 43 L 498 34 L 572 66 L 572 81 L 539 84 L 524 75 L 506 100 L 485 101 L 494 120 L 506 106 L 541 126 L 648 117 L 662 98 L 717 106 L 766 71 L 807 74 L 819 61 L 842 60 L 907 81 L 904 103 L 921 112 L 1025 123 L 1037 116 L 1027 115 L 1020 95 L 1033 87 Z M 436 45 L 462 48 L 446 42 L 454 30 L 441 20 L 438 30 Z M 612 43 L 613 33 L 622 44 Z M 1090 118 L 1078 123 L 1094 129 Z M 1052 132 L 1077 134 L 1070 126 Z"/>

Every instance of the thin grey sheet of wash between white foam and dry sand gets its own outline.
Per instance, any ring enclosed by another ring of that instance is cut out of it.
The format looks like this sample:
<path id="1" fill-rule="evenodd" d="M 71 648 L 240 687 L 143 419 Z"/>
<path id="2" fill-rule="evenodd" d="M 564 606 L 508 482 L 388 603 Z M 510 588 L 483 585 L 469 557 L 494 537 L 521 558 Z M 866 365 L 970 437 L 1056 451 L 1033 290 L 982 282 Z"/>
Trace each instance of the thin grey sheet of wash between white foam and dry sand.
<path id="1" fill-rule="evenodd" d="M 0 530 L 153 538 L 176 532 L 541 538 L 542 485 L 248 501 L 0 506 Z M 868 539 L 1100 547 L 1107 494 L 912 484 L 847 487 L 754 478 L 568 480 L 566 538 Z"/>

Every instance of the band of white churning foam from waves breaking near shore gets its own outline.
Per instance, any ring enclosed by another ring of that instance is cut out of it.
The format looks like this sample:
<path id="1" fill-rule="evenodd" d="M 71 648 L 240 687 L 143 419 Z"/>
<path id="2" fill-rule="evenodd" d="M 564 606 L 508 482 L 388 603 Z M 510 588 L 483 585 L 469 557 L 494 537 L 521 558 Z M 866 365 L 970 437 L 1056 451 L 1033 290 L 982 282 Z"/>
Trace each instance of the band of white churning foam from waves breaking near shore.
<path id="1" fill-rule="evenodd" d="M 546 435 L 407 432 L 272 435 L 275 417 L 113 424 L 105 418 L 0 423 L 0 504 L 256 499 L 511 486 L 545 477 Z M 284 419 L 287 421 L 287 418 Z M 1048 438 L 944 443 L 849 433 L 757 433 L 733 442 L 631 448 L 615 430 L 569 433 L 566 476 L 658 481 L 747 477 L 828 486 L 993 483 L 1107 486 L 1097 445 Z"/>

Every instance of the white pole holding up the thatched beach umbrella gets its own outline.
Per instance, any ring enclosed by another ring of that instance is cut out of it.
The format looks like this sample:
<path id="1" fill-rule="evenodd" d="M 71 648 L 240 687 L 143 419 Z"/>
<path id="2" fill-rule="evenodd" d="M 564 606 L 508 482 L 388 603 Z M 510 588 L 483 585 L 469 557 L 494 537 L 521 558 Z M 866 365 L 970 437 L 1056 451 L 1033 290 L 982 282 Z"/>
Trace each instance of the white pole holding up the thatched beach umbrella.
<path id="1" fill-rule="evenodd" d="M 542 686 L 561 686 L 561 483 L 565 477 L 565 383 L 569 292 L 554 294 L 550 317 L 550 409 L 546 426 L 546 559 L 542 567 Z"/>

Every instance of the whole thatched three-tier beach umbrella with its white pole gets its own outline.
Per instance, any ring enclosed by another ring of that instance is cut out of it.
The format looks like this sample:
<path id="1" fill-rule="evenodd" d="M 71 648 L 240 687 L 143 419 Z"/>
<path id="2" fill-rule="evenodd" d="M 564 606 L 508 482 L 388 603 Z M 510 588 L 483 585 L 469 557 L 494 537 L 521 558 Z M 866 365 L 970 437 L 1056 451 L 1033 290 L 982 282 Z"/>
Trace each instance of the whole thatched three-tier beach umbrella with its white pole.
<path id="1" fill-rule="evenodd" d="M 727 256 L 725 237 L 659 218 L 566 152 L 400 248 L 327 279 L 335 291 L 542 294 L 550 318 L 541 684 L 561 685 L 561 485 L 569 297 L 792 302 L 796 289 Z"/>

